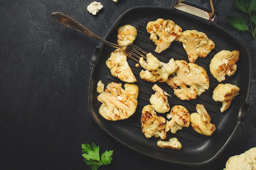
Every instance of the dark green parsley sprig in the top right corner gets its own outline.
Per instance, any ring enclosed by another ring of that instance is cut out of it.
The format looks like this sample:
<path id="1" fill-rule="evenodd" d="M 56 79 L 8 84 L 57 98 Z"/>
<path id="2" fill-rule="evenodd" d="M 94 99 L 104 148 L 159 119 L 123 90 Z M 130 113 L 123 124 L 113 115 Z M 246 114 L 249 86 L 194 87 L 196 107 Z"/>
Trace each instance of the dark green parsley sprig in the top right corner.
<path id="1" fill-rule="evenodd" d="M 256 0 L 233 0 L 233 6 L 239 11 L 248 14 L 248 18 L 245 17 L 227 17 L 229 25 L 238 31 L 249 31 L 255 41 L 256 32 Z M 249 25 L 249 27 L 248 27 Z"/>

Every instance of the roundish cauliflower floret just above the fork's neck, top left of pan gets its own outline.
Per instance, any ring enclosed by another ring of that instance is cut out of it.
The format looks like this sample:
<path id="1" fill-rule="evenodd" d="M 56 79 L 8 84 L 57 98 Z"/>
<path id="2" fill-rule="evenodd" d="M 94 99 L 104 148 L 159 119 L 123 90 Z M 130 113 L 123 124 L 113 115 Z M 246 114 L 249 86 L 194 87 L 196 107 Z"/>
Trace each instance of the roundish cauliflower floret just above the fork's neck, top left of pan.
<path id="1" fill-rule="evenodd" d="M 117 43 L 118 45 L 124 46 L 128 44 L 132 44 L 132 42 L 136 39 L 137 29 L 132 25 L 124 25 L 120 26 L 117 29 Z"/>

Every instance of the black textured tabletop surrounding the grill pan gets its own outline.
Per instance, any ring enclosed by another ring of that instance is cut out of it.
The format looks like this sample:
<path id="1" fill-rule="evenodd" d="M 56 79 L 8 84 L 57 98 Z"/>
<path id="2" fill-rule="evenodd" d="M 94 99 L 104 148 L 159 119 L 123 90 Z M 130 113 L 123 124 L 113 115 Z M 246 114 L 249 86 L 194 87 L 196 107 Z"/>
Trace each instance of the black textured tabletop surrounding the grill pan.
<path id="1" fill-rule="evenodd" d="M 229 28 L 226 16 L 240 15 L 231 0 L 213 0 L 218 24 L 245 44 L 253 75 L 245 124 L 227 148 L 204 166 L 165 163 L 126 148 L 92 120 L 88 86 L 92 55 L 99 41 L 61 26 L 52 12 L 73 16 L 105 37 L 127 9 L 149 5 L 169 7 L 170 0 L 101 0 L 103 9 L 86 10 L 93 0 L 1 0 L 0 2 L 0 169 L 84 170 L 81 144 L 92 142 L 114 150 L 113 161 L 101 170 L 221 170 L 225 162 L 256 146 L 255 53 L 249 33 Z M 187 0 L 210 9 L 208 0 Z M 195 155 L 196 157 L 196 155 Z"/>

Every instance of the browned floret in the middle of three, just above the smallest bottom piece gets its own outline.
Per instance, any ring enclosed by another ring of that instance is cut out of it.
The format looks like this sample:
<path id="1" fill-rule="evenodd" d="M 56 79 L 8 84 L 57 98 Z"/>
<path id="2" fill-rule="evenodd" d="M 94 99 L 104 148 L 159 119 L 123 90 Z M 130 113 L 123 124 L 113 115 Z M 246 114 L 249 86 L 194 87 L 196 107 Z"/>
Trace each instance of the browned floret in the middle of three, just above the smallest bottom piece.
<path id="1" fill-rule="evenodd" d="M 171 112 L 168 113 L 166 117 L 171 119 L 166 122 L 166 132 L 171 129 L 172 133 L 176 133 L 177 130 L 181 130 L 183 127 L 189 127 L 190 115 L 189 111 L 184 106 L 173 106 L 173 108 L 171 108 Z"/>

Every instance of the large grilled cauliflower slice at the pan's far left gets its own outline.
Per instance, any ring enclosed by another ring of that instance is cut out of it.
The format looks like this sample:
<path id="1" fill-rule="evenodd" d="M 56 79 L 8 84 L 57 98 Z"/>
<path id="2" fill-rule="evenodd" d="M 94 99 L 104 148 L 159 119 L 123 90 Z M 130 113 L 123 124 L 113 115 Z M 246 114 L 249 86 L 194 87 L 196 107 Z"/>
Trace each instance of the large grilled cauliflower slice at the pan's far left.
<path id="1" fill-rule="evenodd" d="M 135 113 L 139 88 L 135 84 L 111 82 L 106 89 L 97 96 L 101 106 L 99 114 L 107 120 L 127 119 Z"/>

